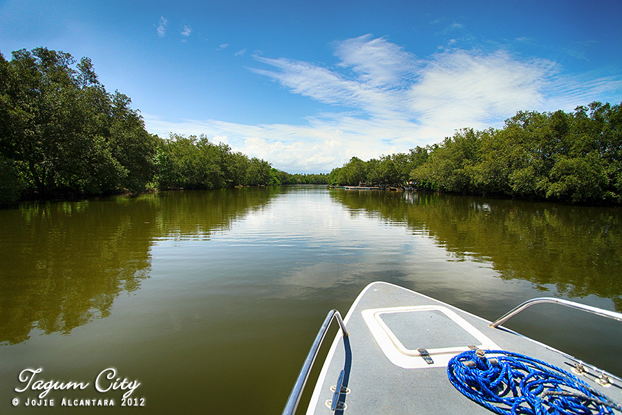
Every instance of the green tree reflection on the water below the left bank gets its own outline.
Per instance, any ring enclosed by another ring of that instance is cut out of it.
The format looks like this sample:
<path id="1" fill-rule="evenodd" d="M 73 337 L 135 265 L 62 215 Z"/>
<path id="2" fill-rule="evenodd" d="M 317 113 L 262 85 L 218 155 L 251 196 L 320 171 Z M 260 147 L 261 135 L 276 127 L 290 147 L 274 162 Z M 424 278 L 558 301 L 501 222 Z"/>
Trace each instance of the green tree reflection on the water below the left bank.
<path id="1" fill-rule="evenodd" d="M 68 334 L 108 316 L 120 293 L 149 278 L 154 240 L 209 239 L 274 194 L 162 192 L 0 210 L 0 344 L 28 340 L 32 329 Z"/>

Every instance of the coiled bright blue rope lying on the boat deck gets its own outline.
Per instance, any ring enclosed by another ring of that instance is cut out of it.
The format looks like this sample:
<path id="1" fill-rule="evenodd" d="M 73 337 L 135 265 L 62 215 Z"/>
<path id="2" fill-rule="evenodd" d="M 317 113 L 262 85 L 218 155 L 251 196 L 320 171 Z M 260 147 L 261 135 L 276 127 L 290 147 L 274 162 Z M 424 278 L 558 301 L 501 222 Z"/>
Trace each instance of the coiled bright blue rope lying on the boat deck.
<path id="1" fill-rule="evenodd" d="M 576 376 L 538 359 L 503 350 L 470 350 L 447 365 L 464 396 L 496 414 L 613 414 L 622 407 Z"/>

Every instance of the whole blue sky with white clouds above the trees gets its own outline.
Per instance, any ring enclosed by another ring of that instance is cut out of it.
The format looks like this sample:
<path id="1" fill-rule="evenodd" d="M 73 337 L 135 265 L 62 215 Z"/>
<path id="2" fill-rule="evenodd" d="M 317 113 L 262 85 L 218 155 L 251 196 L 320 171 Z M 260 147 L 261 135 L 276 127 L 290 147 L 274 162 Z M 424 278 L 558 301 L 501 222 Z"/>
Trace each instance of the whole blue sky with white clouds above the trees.
<path id="1" fill-rule="evenodd" d="M 147 130 L 330 172 L 622 102 L 622 1 L 0 0 L 0 52 L 90 57 Z"/>

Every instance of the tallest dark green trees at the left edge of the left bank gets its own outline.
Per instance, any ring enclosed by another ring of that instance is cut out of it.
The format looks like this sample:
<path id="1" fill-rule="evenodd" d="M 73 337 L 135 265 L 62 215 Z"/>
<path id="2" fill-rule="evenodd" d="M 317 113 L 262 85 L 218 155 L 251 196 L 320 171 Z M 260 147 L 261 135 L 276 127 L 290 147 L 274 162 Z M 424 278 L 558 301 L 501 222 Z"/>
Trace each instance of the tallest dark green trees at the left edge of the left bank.
<path id="1" fill-rule="evenodd" d="M 46 48 L 0 59 L 0 155 L 32 196 L 144 190 L 155 138 L 129 98 L 106 92 L 90 59 L 74 64 Z"/>

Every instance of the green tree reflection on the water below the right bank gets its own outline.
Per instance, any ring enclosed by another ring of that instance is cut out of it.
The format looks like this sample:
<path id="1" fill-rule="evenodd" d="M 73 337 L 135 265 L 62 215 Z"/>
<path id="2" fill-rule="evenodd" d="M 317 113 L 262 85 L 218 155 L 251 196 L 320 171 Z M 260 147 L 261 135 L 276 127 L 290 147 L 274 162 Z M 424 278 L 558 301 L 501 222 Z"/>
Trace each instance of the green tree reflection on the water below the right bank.
<path id="1" fill-rule="evenodd" d="M 622 311 L 622 213 L 552 203 L 442 194 L 334 190 L 352 215 L 362 211 L 426 233 L 456 261 L 490 262 L 502 279 L 540 291 L 610 298 Z"/>

